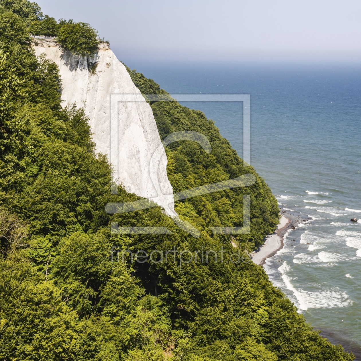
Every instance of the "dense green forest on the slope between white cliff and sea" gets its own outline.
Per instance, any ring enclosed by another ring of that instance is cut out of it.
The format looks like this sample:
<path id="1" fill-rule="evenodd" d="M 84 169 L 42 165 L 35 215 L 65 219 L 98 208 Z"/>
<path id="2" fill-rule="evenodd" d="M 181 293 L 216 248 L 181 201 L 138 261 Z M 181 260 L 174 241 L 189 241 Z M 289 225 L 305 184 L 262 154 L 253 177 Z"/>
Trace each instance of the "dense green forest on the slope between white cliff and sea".
<path id="1" fill-rule="evenodd" d="M 166 94 L 153 80 L 127 69 L 143 94 Z M 251 166 L 243 166 L 243 160 L 204 113 L 188 109 L 175 101 L 157 101 L 151 106 L 161 139 L 176 131 L 192 130 L 204 134 L 212 145 L 210 154 L 201 151 L 199 144 L 189 141 L 168 146 L 167 171 L 174 192 L 247 173 L 256 176 L 256 183 L 251 187 L 210 193 L 177 202 L 177 213 L 206 232 L 209 232 L 209 226 L 242 226 L 243 195 L 251 195 L 251 234 L 239 235 L 237 243 L 248 251 L 259 247 L 264 236 L 275 230 L 279 219 L 277 201 L 263 179 L 258 177 Z M 229 241 L 229 238 L 226 239 Z"/>

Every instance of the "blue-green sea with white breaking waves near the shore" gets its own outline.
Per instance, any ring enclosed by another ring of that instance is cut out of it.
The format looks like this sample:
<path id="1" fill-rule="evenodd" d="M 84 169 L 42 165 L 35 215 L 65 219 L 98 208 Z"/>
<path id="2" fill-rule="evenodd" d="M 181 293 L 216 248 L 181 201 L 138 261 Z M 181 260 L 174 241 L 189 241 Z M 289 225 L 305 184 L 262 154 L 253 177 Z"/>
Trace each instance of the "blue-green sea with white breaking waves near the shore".
<path id="1" fill-rule="evenodd" d="M 265 271 L 307 322 L 361 360 L 360 64 L 126 63 L 171 94 L 251 95 L 251 164 L 281 210 L 310 217 Z M 242 157 L 242 102 L 181 104 L 213 119 Z"/>

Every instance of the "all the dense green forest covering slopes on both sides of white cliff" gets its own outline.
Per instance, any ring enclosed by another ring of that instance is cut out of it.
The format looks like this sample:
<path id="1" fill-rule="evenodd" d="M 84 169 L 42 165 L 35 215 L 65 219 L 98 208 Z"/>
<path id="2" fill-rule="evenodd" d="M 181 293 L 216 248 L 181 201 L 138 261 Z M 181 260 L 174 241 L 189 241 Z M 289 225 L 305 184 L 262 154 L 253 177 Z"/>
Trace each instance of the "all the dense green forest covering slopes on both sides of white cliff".
<path id="1" fill-rule="evenodd" d="M 1 360 L 352 360 L 305 323 L 261 267 L 190 262 L 112 262 L 110 249 L 225 249 L 228 235 L 209 225 L 242 225 L 242 195 L 252 197 L 252 233 L 259 245 L 278 221 L 277 203 L 257 176 L 234 189 L 177 203 L 201 230 L 193 238 L 160 207 L 110 216 L 110 168 L 94 154 L 82 109 L 62 109 L 55 64 L 32 51 L 29 32 L 43 17 L 26 0 L 0 0 L 0 359 Z M 37 26 L 37 25 L 36 25 Z M 143 93 L 164 93 L 130 71 Z M 254 173 L 203 113 L 173 102 L 152 104 L 161 137 L 203 132 L 196 143 L 167 149 L 175 191 Z M 166 235 L 117 235 L 110 222 L 165 226 Z"/>

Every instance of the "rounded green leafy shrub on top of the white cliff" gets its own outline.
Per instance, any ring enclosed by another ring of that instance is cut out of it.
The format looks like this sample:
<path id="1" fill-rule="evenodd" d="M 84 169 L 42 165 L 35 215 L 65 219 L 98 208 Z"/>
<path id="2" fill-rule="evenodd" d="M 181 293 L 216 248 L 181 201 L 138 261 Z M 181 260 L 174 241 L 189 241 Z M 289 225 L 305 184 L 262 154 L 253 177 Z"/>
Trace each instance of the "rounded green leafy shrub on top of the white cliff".
<path id="1" fill-rule="evenodd" d="M 90 56 L 98 48 L 97 32 L 87 23 L 69 20 L 58 31 L 58 43 L 74 54 Z"/>

